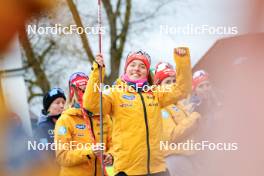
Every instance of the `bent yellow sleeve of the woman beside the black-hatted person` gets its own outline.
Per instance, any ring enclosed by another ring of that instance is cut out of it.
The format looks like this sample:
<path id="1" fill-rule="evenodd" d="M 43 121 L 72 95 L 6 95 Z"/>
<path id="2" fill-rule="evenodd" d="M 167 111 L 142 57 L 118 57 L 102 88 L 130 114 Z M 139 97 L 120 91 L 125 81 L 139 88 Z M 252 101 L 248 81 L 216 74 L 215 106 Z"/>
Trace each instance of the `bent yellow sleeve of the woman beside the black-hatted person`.
<path id="1" fill-rule="evenodd" d="M 56 148 L 56 160 L 61 166 L 69 167 L 79 165 L 94 158 L 91 148 L 73 149 L 72 143 L 72 127 L 67 123 L 67 116 L 61 116 L 55 125 L 54 130 Z"/>

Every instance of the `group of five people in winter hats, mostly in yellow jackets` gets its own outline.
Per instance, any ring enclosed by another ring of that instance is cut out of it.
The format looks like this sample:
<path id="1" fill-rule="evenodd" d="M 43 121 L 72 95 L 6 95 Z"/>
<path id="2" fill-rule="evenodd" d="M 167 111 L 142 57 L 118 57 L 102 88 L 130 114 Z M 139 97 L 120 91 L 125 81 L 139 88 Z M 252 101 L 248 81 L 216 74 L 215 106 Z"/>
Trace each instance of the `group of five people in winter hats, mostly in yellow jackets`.
<path id="1" fill-rule="evenodd" d="M 170 145 L 199 140 L 197 133 L 207 126 L 204 114 L 210 113 L 215 95 L 206 71 L 192 75 L 188 48 L 175 48 L 174 61 L 176 69 L 167 62 L 152 69 L 145 51 L 131 52 L 115 86 L 101 90 L 99 72 L 104 75 L 107 65 L 98 54 L 89 76 L 70 76 L 68 96 L 60 88 L 47 92 L 36 138 L 44 144 L 76 143 L 50 152 L 60 175 L 194 175 L 196 151 L 161 149 L 161 141 Z M 98 147 L 100 104 L 103 145 Z"/>

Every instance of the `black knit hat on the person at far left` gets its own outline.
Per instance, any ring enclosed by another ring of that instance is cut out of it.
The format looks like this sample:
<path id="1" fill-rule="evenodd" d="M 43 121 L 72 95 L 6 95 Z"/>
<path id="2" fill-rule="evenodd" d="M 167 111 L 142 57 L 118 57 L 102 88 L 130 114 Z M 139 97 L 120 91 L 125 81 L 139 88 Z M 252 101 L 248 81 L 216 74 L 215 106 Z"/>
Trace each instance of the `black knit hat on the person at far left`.
<path id="1" fill-rule="evenodd" d="M 60 88 L 53 88 L 49 90 L 43 97 L 43 110 L 42 113 L 44 115 L 48 114 L 48 109 L 51 103 L 56 100 L 57 98 L 63 98 L 66 100 L 65 94 L 62 89 Z"/>

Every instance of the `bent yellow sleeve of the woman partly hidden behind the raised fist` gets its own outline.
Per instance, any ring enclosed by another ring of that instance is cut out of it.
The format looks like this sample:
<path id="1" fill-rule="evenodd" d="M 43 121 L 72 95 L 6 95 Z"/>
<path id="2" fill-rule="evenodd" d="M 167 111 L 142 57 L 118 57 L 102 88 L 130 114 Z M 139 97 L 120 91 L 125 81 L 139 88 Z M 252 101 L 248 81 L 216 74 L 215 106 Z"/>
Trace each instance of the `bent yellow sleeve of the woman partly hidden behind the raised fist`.
<path id="1" fill-rule="evenodd" d="M 180 142 L 195 131 L 200 114 L 197 112 L 187 114 L 180 109 L 172 118 L 176 123 L 176 127 L 171 134 L 171 141 Z"/>

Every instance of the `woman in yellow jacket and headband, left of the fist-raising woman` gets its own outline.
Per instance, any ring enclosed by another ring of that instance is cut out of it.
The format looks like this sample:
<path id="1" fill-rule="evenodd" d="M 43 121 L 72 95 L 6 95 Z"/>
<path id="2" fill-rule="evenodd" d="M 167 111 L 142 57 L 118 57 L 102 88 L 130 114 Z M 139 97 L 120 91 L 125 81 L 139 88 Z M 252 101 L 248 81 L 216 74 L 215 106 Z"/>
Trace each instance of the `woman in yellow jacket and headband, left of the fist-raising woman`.
<path id="1" fill-rule="evenodd" d="M 111 121 L 104 120 L 104 146 L 99 149 L 93 144 L 99 142 L 99 117 L 82 111 L 82 96 L 88 76 L 82 72 L 74 73 L 69 80 L 69 108 L 65 110 L 55 126 L 56 159 L 60 165 L 61 176 L 101 175 L 99 150 L 105 148 L 104 163 L 111 165 L 113 157 L 111 147 Z M 84 113 L 87 113 L 84 118 Z M 88 122 L 89 121 L 89 122 Z"/>

